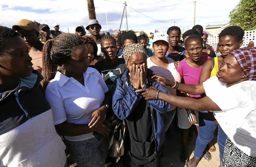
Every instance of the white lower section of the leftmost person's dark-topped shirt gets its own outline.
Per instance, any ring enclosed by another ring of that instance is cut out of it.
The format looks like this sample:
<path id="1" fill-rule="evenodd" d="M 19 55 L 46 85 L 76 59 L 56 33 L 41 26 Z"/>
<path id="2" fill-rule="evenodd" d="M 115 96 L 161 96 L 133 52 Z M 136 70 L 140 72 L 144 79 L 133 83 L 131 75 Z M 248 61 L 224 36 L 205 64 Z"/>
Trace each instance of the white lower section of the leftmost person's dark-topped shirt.
<path id="1" fill-rule="evenodd" d="M 0 166 L 63 167 L 65 149 L 49 109 L 0 135 Z"/>

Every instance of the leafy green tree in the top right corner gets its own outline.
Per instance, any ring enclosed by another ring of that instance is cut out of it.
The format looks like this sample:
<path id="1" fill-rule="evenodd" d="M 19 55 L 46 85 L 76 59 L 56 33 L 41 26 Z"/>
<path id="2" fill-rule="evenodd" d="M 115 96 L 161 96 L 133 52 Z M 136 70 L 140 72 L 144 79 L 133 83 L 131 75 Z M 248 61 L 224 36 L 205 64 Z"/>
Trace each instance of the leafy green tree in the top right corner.
<path id="1" fill-rule="evenodd" d="M 241 0 L 229 14 L 230 24 L 244 31 L 256 30 L 256 0 Z"/>

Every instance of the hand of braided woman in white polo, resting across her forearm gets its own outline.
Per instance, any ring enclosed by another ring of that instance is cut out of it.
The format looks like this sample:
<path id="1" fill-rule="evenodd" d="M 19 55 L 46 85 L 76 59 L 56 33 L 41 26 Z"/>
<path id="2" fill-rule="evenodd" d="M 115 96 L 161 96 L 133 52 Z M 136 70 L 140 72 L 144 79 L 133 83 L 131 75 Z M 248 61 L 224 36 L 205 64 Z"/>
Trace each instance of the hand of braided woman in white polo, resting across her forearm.
<path id="1" fill-rule="evenodd" d="M 97 110 L 95 110 L 91 116 L 88 119 L 91 119 L 90 123 L 88 124 L 88 126 L 90 126 L 90 128 L 93 127 L 97 127 L 99 125 L 101 125 L 104 121 L 105 118 L 105 111 L 102 109 L 102 107 L 98 108 Z"/>

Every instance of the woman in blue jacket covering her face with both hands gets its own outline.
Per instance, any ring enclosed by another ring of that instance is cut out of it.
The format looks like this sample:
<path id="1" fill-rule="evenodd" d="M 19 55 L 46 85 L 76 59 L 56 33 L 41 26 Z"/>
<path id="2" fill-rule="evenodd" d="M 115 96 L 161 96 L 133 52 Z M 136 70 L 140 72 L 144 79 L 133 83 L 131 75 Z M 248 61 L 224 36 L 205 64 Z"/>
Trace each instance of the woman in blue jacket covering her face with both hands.
<path id="1" fill-rule="evenodd" d="M 160 83 L 148 80 L 153 74 L 147 69 L 146 50 L 143 46 L 139 44 L 126 46 L 123 57 L 127 70 L 122 77 L 114 81 L 112 100 L 115 115 L 124 120 L 126 125 L 123 162 L 125 166 L 152 162 L 151 165 L 156 165 L 154 161 L 165 139 L 161 115 L 165 114 L 171 105 L 161 100 L 147 101 L 141 93 L 135 91 L 150 86 L 162 92 L 169 93 L 169 91 Z"/>

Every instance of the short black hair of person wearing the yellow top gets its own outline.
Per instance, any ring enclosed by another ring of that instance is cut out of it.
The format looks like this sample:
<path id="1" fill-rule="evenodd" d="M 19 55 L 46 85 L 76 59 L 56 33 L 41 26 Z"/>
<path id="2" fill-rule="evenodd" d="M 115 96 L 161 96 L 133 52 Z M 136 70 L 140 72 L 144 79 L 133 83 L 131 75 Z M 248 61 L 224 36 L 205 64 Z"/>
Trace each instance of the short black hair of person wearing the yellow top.
<path id="1" fill-rule="evenodd" d="M 219 39 L 222 36 L 233 36 L 237 42 L 240 42 L 241 40 L 243 40 L 244 30 L 239 26 L 230 26 L 222 30 L 221 33 L 219 33 Z"/>

